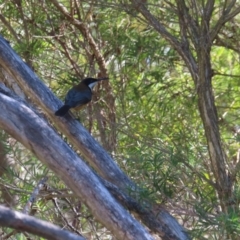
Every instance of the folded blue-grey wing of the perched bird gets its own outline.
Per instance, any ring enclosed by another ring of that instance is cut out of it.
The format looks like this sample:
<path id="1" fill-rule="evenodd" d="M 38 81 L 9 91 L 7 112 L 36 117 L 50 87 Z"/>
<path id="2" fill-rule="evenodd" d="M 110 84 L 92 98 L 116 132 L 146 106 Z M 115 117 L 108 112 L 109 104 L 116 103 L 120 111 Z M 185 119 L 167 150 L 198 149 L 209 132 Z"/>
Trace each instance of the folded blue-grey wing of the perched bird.
<path id="1" fill-rule="evenodd" d="M 84 89 L 84 91 L 77 91 L 72 88 L 65 98 L 65 105 L 69 105 L 71 108 L 87 104 L 91 101 L 92 92 L 90 89 Z"/>

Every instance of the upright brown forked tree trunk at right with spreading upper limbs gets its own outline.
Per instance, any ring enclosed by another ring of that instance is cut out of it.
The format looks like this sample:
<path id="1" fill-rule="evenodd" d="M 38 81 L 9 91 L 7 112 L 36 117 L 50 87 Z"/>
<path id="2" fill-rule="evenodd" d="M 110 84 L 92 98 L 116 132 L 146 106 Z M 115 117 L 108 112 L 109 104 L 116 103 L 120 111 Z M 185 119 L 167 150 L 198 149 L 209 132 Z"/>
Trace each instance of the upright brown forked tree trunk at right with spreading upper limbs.
<path id="1" fill-rule="evenodd" d="M 211 47 L 219 31 L 227 21 L 240 12 L 240 7 L 234 8 L 236 1 L 225 2 L 222 12 L 219 13 L 219 20 L 213 27 L 210 27 L 215 1 L 210 0 L 202 3 L 199 20 L 195 15 L 190 14 L 186 1 L 178 0 L 176 5 L 172 5 L 179 19 L 180 37 L 176 38 L 148 10 L 146 4 L 141 0 L 132 0 L 131 2 L 146 21 L 178 52 L 192 75 L 207 140 L 214 184 L 216 185 L 222 210 L 226 213 L 233 197 L 232 179 L 235 174 L 232 176 L 227 168 L 227 156 L 218 126 L 218 115 L 212 87 L 213 71 L 210 54 Z M 194 4 L 194 6 L 199 6 L 197 3 Z M 191 48 L 191 45 L 194 48 Z M 196 53 L 196 56 L 194 56 L 194 53 Z"/>

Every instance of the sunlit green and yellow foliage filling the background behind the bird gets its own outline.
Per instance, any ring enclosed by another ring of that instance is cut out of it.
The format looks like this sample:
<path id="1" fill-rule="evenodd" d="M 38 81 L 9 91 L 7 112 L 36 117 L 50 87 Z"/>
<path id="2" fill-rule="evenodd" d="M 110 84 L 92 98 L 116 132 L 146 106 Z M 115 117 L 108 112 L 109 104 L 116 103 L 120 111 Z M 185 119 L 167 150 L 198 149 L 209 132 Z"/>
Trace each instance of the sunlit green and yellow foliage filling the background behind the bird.
<path id="1" fill-rule="evenodd" d="M 79 79 L 98 76 L 105 67 L 109 86 L 99 85 L 94 102 L 75 113 L 82 124 L 141 186 L 142 197 L 164 204 L 193 238 L 237 239 L 239 15 L 229 19 L 211 46 L 217 124 L 227 155 L 226 169 L 234 176 L 231 203 L 223 211 L 199 112 L 198 89 L 176 49 L 128 1 L 58 1 L 70 17 L 54 2 L 0 1 L 1 34 L 61 99 Z M 146 4 L 156 19 L 180 38 L 176 2 L 153 0 Z M 196 16 L 196 25 L 204 19 L 201 11 L 205 2 L 185 3 L 189 14 Z M 215 26 L 223 3 L 227 1 L 216 1 L 210 27 Z M 237 4 L 233 3 L 236 11 Z M 197 58 L 194 33 L 187 35 L 189 48 Z M 96 44 L 95 50 L 89 36 Z M 8 135 L 3 134 L 1 139 L 8 159 L 0 180 L 2 202 L 22 209 L 26 193 L 48 174 L 50 188 L 36 202 L 35 214 L 70 230 L 77 229 L 89 239 L 90 235 L 107 239 L 110 233 L 94 222 L 81 200 L 74 198 L 57 176 Z M 80 220 L 76 223 L 73 209 L 79 208 Z"/>

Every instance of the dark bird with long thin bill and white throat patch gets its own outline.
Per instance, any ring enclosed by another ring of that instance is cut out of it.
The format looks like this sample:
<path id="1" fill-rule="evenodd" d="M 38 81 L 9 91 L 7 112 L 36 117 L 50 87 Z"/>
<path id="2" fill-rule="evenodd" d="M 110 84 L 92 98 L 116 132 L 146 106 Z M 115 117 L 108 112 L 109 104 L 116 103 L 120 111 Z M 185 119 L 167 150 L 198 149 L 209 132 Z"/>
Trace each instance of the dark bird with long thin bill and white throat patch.
<path id="1" fill-rule="evenodd" d="M 81 109 L 84 105 L 92 100 L 92 89 L 95 84 L 102 80 L 108 80 L 104 78 L 85 78 L 78 85 L 71 88 L 66 97 L 65 103 L 56 112 L 56 116 L 64 116 L 70 108 Z"/>

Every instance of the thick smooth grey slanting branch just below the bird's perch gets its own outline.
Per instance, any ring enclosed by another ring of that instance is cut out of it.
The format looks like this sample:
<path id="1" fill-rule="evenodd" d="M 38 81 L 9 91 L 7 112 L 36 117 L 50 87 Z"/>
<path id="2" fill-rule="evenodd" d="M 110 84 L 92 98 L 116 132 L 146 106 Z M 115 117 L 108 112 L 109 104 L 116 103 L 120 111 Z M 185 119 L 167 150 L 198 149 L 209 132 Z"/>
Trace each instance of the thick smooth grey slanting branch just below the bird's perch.
<path id="1" fill-rule="evenodd" d="M 120 239 L 152 239 L 50 125 L 25 104 L 15 100 L 14 94 L 8 91 L 6 95 L 6 92 L 6 87 L 0 85 L 1 128 L 54 171 L 114 236 Z"/>

